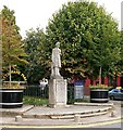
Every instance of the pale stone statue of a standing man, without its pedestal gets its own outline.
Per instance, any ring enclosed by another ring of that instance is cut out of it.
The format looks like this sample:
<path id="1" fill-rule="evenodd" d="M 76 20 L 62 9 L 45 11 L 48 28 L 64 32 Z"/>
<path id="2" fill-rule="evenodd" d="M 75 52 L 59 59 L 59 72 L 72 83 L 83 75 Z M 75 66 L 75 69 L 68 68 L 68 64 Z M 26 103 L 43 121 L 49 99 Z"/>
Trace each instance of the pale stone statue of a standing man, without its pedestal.
<path id="1" fill-rule="evenodd" d="M 60 42 L 56 43 L 56 48 L 52 49 L 52 56 L 51 56 L 51 77 L 61 77 L 60 68 L 61 68 L 61 50 Z"/>

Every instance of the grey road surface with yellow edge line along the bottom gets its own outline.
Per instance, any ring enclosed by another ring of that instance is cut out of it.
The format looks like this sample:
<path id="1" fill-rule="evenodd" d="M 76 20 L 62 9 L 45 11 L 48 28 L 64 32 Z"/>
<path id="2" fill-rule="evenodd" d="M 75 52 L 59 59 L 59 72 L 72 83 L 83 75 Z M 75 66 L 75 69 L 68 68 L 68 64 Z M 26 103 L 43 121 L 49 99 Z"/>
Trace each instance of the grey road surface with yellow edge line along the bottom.
<path id="1" fill-rule="evenodd" d="M 56 128 L 46 128 L 41 127 L 28 127 L 28 128 L 21 128 L 21 126 L 15 126 L 10 128 L 3 128 L 2 130 L 123 130 L 123 120 L 113 120 L 108 122 L 98 122 L 98 123 L 90 123 L 90 125 L 77 125 L 77 126 L 57 126 Z"/>

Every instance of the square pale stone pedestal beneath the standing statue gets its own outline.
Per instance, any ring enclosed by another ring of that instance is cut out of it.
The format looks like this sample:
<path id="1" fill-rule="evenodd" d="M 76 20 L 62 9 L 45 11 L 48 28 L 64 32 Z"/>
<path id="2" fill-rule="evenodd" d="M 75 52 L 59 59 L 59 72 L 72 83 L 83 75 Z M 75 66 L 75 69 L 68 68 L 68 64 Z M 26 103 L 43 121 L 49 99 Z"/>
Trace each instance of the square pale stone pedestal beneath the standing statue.
<path id="1" fill-rule="evenodd" d="M 49 80 L 49 106 L 64 107 L 67 101 L 67 82 L 63 78 L 52 78 Z"/>

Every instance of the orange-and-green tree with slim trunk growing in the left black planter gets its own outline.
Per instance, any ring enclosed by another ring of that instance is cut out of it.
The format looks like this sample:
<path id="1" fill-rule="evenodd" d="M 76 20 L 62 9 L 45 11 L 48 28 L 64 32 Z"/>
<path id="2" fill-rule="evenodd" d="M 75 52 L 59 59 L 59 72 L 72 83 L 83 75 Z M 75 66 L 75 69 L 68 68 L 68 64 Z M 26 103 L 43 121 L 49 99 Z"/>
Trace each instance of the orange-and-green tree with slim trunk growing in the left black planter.
<path id="1" fill-rule="evenodd" d="M 3 6 L 0 20 L 2 22 L 2 67 L 3 73 L 9 69 L 11 86 L 11 69 L 15 68 L 15 65 L 27 63 L 23 58 L 27 55 L 24 52 L 20 28 L 15 23 L 14 11 Z"/>

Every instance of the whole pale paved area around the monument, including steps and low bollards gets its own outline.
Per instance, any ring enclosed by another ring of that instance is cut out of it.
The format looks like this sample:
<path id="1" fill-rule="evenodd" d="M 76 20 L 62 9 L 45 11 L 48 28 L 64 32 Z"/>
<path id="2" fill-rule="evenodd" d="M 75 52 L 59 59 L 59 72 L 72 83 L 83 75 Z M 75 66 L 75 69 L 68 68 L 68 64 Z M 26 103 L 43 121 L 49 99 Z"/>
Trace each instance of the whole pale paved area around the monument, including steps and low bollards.
<path id="1" fill-rule="evenodd" d="M 23 105 L 0 108 L 0 126 L 72 126 L 106 122 L 122 118 L 120 101 L 74 103 L 66 107 Z"/>

